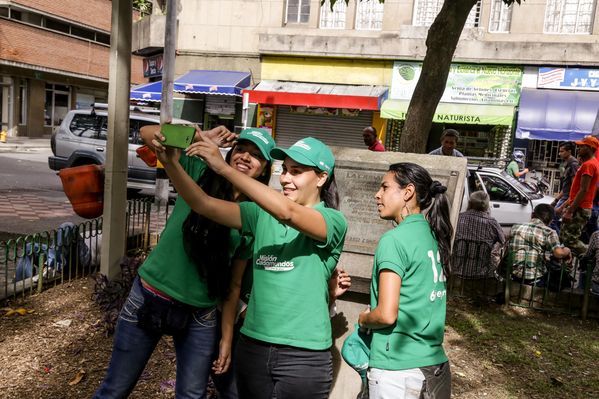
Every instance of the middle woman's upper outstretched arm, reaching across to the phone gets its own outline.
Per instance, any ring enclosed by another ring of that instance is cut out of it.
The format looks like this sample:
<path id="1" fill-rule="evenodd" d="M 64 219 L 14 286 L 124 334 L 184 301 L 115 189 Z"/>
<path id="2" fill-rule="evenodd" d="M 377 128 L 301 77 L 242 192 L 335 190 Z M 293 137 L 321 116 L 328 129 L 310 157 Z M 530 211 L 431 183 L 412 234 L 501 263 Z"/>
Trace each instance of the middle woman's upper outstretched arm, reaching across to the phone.
<path id="1" fill-rule="evenodd" d="M 200 140 L 188 148 L 187 155 L 203 158 L 212 170 L 229 180 L 240 192 L 251 198 L 280 222 L 315 240 L 326 241 L 327 225 L 320 212 L 311 207 L 297 204 L 280 192 L 235 170 L 224 162 L 214 143 Z M 322 183 L 324 184 L 325 181 L 326 176 Z"/>

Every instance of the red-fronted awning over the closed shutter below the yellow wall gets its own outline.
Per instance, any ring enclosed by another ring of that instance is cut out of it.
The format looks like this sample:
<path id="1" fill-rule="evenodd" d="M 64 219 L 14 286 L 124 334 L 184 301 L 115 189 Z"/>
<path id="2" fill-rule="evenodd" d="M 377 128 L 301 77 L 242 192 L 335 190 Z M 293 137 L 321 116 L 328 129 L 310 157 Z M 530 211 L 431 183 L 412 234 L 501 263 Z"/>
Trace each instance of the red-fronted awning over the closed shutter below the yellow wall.
<path id="1" fill-rule="evenodd" d="M 257 104 L 378 111 L 387 98 L 388 87 L 263 80 L 253 90 L 243 92 Z"/>

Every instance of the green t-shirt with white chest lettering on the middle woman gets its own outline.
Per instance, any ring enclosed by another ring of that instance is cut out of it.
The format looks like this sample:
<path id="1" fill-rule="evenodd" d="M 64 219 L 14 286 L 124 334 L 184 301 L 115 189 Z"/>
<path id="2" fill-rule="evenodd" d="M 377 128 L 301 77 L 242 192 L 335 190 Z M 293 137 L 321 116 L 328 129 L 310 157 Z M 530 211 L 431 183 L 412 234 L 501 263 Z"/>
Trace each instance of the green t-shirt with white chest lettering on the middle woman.
<path id="1" fill-rule="evenodd" d="M 326 242 L 289 227 L 258 205 L 243 202 L 242 234 L 253 236 L 254 285 L 241 332 L 273 344 L 323 350 L 332 344 L 328 280 L 337 266 L 347 221 L 321 202 Z"/>

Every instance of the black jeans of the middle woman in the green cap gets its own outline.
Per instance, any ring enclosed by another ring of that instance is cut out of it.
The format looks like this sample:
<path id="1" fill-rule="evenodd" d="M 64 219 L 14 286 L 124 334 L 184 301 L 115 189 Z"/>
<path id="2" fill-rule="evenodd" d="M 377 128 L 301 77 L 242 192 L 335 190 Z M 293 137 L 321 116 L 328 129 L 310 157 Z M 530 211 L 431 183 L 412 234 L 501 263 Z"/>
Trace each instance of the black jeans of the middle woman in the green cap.
<path id="1" fill-rule="evenodd" d="M 333 383 L 331 351 L 239 337 L 235 371 L 240 399 L 326 399 Z"/>

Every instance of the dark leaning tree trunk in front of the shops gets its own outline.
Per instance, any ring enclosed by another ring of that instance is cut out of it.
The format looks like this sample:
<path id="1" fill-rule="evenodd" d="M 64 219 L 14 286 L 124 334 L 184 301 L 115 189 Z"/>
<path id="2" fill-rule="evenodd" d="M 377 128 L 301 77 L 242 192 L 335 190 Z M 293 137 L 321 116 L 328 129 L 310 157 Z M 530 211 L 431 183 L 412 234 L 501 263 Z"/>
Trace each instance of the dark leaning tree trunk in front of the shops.
<path id="1" fill-rule="evenodd" d="M 435 109 L 445 91 L 453 53 L 466 19 L 477 0 L 445 0 L 428 30 L 426 55 L 420 78 L 408 107 L 399 148 L 402 152 L 423 153 Z"/>

